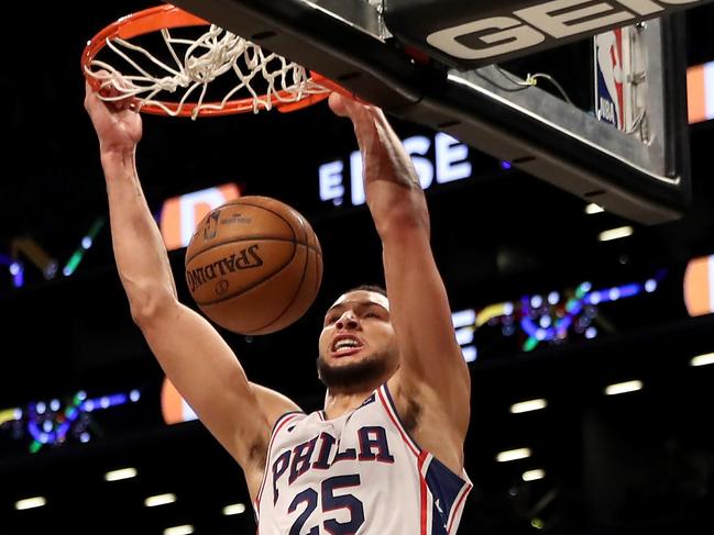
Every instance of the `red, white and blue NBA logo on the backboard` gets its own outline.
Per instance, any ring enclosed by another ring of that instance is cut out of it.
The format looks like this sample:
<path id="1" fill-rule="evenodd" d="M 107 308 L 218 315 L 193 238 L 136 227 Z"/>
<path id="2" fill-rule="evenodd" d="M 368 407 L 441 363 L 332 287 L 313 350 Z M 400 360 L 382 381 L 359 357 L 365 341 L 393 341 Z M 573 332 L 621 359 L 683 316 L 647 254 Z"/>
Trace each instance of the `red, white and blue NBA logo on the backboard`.
<path id="1" fill-rule="evenodd" d="M 630 40 L 629 27 L 596 35 L 595 113 L 623 132 L 629 132 L 630 121 Z"/>

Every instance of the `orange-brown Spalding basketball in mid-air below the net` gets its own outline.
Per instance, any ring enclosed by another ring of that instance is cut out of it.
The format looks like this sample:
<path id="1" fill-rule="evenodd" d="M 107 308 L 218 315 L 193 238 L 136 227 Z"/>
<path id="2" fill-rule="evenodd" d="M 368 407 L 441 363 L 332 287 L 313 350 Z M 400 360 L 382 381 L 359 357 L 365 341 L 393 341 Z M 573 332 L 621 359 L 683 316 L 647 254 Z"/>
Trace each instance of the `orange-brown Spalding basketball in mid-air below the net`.
<path id="1" fill-rule="evenodd" d="M 312 227 L 270 197 L 242 197 L 211 210 L 196 226 L 185 264 L 201 312 L 244 335 L 274 333 L 297 321 L 322 280 Z"/>

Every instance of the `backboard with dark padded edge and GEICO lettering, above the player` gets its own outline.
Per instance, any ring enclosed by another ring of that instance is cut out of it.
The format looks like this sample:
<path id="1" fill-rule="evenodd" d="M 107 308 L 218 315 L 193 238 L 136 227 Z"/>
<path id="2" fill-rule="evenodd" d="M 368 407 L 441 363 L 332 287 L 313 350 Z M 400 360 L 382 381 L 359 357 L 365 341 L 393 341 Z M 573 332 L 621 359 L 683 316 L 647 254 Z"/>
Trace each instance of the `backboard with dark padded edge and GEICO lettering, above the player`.
<path id="1" fill-rule="evenodd" d="M 331 78 L 389 114 L 449 133 L 613 213 L 656 224 L 680 218 L 690 202 L 686 62 L 678 11 L 706 2 L 174 3 Z M 628 67 L 615 58 L 603 70 L 597 46 L 605 59 L 622 54 L 613 44 L 622 43 L 622 34 L 597 36 L 622 27 L 635 40 Z M 593 67 L 589 109 L 499 65 L 584 40 L 594 51 L 582 59 Z M 602 98 L 603 76 L 615 87 L 608 101 Z M 625 98 L 623 83 L 640 86 L 630 94 L 640 114 L 627 129 L 614 124 L 611 109 Z"/>

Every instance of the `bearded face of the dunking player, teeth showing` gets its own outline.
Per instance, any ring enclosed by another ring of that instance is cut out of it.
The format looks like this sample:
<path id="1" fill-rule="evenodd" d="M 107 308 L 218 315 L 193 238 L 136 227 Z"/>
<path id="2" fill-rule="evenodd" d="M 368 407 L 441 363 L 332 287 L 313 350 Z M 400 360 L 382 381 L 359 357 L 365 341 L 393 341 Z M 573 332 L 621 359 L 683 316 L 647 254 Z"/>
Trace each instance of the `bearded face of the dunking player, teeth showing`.
<path id="1" fill-rule="evenodd" d="M 338 388 L 376 387 L 398 363 L 387 298 L 364 290 L 342 294 L 325 315 L 320 334 L 322 381 Z"/>

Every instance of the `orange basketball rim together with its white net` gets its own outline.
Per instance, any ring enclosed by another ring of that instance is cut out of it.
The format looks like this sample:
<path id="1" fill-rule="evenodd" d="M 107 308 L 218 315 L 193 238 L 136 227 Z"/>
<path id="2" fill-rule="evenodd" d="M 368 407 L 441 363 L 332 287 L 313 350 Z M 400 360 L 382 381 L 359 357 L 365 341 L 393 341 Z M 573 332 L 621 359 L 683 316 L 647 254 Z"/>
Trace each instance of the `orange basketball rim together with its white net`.
<path id="1" fill-rule="evenodd" d="M 189 26 L 209 26 L 209 30 L 196 40 L 171 36 L 169 30 Z M 131 43 L 153 32 L 161 32 L 176 65 L 154 59 L 149 51 Z M 174 53 L 176 43 L 188 48 L 184 57 Z M 98 59 L 98 54 L 106 48 L 121 56 L 136 74 L 122 73 L 116 67 L 119 65 L 116 59 L 112 63 Z M 136 56 L 129 57 L 129 54 Z M 163 66 L 168 75 L 150 74 L 140 60 Z M 271 68 L 266 68 L 268 63 Z M 331 91 L 323 77 L 314 77 L 304 67 L 171 4 L 129 14 L 101 30 L 87 43 L 81 69 L 102 100 L 130 98 L 142 112 L 193 119 L 272 108 L 289 112 L 315 104 Z M 207 86 L 229 73 L 237 76 L 233 88 L 221 100 L 205 101 Z M 253 86 L 257 78 L 260 91 Z M 316 81 L 318 79 L 320 82 Z M 182 90 L 183 97 L 178 100 L 161 98 L 162 92 L 176 96 Z M 241 98 L 241 93 L 248 96 Z"/>

